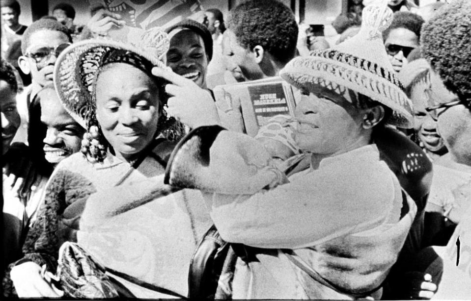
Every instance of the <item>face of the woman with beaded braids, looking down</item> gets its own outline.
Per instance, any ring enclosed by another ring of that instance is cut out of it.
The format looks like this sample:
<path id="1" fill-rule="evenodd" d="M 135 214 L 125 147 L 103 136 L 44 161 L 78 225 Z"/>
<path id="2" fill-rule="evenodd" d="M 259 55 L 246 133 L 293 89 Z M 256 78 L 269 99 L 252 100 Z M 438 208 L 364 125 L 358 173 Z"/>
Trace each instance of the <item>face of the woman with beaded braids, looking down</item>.
<path id="1" fill-rule="evenodd" d="M 154 139 L 159 121 L 159 89 L 138 68 L 115 63 L 96 83 L 96 118 L 117 156 L 132 159 Z"/>

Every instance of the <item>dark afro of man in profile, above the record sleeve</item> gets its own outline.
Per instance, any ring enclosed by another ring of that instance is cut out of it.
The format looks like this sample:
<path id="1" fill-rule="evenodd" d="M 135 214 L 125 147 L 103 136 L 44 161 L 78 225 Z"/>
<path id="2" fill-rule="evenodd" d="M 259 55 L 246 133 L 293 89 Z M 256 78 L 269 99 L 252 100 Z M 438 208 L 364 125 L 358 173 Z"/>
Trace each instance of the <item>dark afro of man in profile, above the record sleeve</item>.
<path id="1" fill-rule="evenodd" d="M 238 43 L 252 50 L 260 45 L 277 61 L 287 63 L 296 53 L 298 25 L 289 7 L 277 0 L 249 0 L 230 12 L 228 22 Z"/>

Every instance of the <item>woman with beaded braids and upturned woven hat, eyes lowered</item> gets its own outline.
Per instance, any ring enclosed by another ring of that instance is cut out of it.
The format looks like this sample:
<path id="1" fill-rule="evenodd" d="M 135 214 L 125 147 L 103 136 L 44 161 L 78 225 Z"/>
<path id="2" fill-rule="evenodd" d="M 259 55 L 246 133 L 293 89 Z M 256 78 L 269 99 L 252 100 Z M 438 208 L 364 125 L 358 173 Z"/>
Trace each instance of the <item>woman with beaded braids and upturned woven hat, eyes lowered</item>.
<path id="1" fill-rule="evenodd" d="M 11 272 L 20 297 L 61 294 L 39 273 L 44 264 L 54 273 L 57 256 L 66 296 L 186 296 L 191 256 L 211 223 L 199 192 L 163 185 L 182 132 L 166 116 L 164 80 L 151 75 L 166 68 L 167 49 L 166 33 L 152 29 L 139 46 L 87 40 L 58 57 L 59 98 L 87 132 L 82 153 L 60 162 L 48 184 L 28 238 L 32 262 Z"/>

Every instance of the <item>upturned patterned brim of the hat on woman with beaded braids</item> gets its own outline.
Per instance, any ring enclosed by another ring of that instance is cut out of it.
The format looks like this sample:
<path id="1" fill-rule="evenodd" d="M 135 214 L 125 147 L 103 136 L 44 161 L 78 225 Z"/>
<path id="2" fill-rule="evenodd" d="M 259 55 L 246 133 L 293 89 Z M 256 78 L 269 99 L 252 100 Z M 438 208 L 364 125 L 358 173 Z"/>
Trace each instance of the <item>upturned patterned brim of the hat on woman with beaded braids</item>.
<path id="1" fill-rule="evenodd" d="M 110 50 L 131 51 L 157 67 L 167 68 L 159 57 L 133 45 L 114 40 L 84 40 L 67 47 L 55 62 L 54 86 L 65 110 L 84 128 L 87 125 L 87 114 L 92 101 L 93 82 L 104 54 Z"/>

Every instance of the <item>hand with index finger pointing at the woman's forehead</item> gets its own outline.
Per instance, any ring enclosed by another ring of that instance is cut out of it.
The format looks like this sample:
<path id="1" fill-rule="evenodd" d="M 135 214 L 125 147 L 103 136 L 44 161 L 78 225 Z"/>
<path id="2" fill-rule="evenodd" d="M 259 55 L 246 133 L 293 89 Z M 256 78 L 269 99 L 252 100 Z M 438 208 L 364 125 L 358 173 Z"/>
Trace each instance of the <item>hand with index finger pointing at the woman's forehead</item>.
<path id="1" fill-rule="evenodd" d="M 170 95 L 166 108 L 170 116 L 191 128 L 220 124 L 216 104 L 208 91 L 169 70 L 154 67 L 152 74 L 170 82 L 165 86 L 166 93 Z"/>

